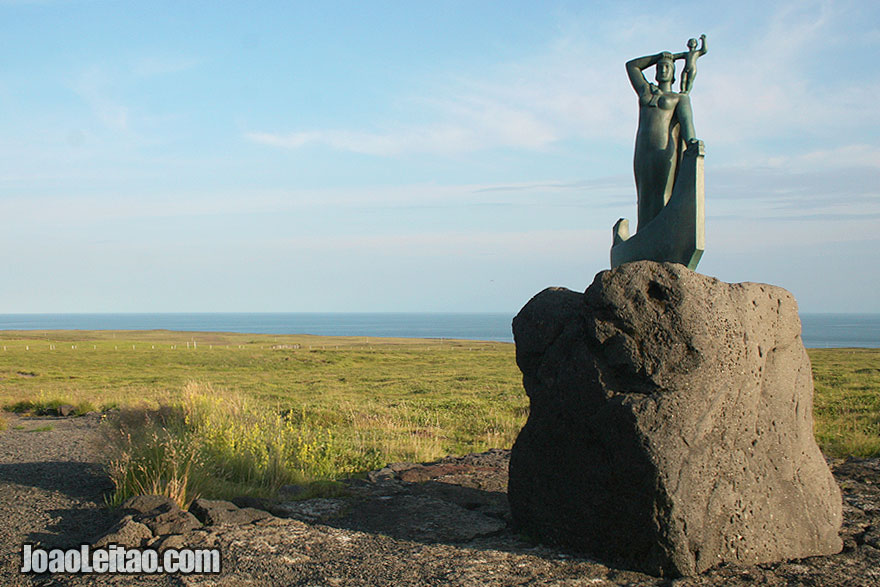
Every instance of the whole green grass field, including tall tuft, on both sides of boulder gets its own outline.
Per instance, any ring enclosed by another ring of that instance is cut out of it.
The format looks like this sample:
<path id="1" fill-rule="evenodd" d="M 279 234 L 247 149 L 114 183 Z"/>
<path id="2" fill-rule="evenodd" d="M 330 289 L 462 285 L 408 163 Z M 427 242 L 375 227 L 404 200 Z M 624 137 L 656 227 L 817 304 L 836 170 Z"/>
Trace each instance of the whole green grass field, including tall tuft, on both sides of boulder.
<path id="1" fill-rule="evenodd" d="M 528 414 L 504 343 L 50 331 L 0 332 L 0 345 L 6 409 L 124 408 L 107 427 L 118 499 L 268 494 L 506 448 Z M 880 455 L 880 350 L 809 353 L 822 449 Z"/>

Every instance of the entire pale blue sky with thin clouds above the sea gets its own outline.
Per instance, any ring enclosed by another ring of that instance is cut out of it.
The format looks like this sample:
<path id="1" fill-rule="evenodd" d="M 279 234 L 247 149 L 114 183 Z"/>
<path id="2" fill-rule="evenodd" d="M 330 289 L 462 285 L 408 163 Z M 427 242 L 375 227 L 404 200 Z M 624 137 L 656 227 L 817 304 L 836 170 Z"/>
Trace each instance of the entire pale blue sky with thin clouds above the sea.
<path id="1" fill-rule="evenodd" d="M 699 271 L 880 312 L 867 0 L 0 0 L 0 308 L 516 312 L 583 290 L 635 218 L 624 63 L 701 33 Z"/>

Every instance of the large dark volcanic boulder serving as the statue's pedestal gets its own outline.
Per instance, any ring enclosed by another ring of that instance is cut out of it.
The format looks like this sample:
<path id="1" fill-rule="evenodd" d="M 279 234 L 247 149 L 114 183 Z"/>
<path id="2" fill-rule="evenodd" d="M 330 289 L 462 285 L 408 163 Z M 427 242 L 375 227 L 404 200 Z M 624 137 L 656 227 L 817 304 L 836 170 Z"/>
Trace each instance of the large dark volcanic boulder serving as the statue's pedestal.
<path id="1" fill-rule="evenodd" d="M 658 575 L 839 552 L 800 329 L 784 289 L 670 263 L 536 295 L 513 321 L 517 526 Z"/>

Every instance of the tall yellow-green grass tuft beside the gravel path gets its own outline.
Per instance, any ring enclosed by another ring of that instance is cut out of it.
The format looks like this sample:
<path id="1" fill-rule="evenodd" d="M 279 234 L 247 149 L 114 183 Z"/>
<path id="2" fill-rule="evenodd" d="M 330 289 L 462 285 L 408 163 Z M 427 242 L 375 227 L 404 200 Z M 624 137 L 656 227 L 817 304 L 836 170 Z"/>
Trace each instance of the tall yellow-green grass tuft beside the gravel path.
<path id="1" fill-rule="evenodd" d="M 112 505 L 141 493 L 183 507 L 198 496 L 273 495 L 379 466 L 377 451 L 340 441 L 305 411 L 267 409 L 201 383 L 158 410 L 120 412 L 107 440 Z"/>

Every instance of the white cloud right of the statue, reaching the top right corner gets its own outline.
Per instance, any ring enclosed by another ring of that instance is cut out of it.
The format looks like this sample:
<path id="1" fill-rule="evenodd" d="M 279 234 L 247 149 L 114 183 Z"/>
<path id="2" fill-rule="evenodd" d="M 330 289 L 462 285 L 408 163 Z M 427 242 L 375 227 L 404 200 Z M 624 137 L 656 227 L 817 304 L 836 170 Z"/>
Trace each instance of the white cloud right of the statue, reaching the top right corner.
<path id="1" fill-rule="evenodd" d="M 870 135 L 877 128 L 880 84 L 870 75 L 833 81 L 823 75 L 835 71 L 829 69 L 831 55 L 858 59 L 846 46 L 850 33 L 841 22 L 846 12 L 827 2 L 788 3 L 769 10 L 766 26 L 756 27 L 757 34 L 735 52 L 710 46 L 694 91 L 698 134 L 744 151 L 762 149 L 763 140 L 797 137 L 834 145 L 855 133 Z M 792 142 L 787 148 L 796 151 Z"/>

